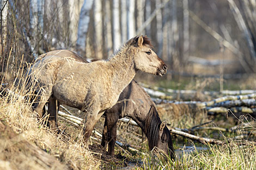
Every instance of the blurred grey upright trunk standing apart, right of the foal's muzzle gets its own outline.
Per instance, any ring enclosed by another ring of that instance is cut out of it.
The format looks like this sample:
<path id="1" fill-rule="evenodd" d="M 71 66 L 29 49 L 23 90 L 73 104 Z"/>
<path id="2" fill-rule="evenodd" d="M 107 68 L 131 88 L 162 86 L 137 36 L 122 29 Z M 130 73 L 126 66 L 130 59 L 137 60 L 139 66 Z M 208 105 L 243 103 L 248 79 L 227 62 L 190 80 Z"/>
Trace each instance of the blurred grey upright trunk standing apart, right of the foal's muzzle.
<path id="1" fill-rule="evenodd" d="M 188 0 L 183 0 L 183 54 L 184 61 L 188 58 L 190 49 L 190 34 L 189 34 L 189 15 L 188 15 Z"/>

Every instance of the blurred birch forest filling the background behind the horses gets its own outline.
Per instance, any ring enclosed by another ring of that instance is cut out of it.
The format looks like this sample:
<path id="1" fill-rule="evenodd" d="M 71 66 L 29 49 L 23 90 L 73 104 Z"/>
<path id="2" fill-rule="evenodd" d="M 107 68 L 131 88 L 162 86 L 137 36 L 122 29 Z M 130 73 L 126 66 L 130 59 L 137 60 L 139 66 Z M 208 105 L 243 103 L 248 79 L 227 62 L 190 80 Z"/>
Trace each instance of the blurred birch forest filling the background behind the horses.
<path id="1" fill-rule="evenodd" d="M 255 0 L 1 0 L 1 72 L 54 49 L 107 59 L 147 35 L 169 75 L 255 73 Z"/>

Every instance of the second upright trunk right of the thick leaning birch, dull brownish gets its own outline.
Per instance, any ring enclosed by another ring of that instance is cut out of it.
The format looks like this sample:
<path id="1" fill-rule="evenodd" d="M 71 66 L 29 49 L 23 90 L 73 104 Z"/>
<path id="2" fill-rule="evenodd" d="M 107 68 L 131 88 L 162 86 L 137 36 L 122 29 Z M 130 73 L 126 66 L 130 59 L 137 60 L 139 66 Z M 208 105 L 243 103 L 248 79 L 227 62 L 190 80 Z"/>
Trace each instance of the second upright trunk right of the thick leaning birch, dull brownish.
<path id="1" fill-rule="evenodd" d="M 107 56 L 113 54 L 112 34 L 111 34 L 111 9 L 109 0 L 105 0 L 105 45 L 107 48 Z"/>

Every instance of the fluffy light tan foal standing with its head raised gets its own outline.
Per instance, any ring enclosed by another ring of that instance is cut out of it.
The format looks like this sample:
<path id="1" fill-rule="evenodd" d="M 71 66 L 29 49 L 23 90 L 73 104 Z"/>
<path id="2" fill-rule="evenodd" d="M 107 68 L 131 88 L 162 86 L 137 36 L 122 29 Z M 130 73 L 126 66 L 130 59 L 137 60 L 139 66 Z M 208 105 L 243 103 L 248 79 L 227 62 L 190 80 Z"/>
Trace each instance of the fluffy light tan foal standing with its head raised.
<path id="1" fill-rule="evenodd" d="M 83 132 L 87 141 L 97 120 L 117 103 L 139 70 L 159 76 L 167 72 L 145 36 L 129 40 L 108 61 L 83 63 L 70 57 L 45 56 L 28 71 L 26 82 L 28 86 L 37 84 L 33 89 L 38 94 L 34 111 L 39 117 L 45 103 L 51 105 L 56 100 L 85 112 Z"/>

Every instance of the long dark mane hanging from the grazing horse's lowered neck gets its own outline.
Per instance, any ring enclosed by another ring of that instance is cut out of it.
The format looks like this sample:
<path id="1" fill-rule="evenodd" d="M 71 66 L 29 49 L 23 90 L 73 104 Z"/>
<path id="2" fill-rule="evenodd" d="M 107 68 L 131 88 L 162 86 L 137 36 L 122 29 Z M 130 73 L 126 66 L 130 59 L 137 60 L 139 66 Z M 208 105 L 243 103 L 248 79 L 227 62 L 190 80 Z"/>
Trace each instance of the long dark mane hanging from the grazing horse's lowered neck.
<path id="1" fill-rule="evenodd" d="M 154 105 L 151 105 L 150 110 L 147 116 L 144 118 L 141 124 L 141 128 L 148 137 L 149 140 L 149 149 L 152 150 L 154 146 L 158 146 L 159 140 L 159 129 L 161 125 L 161 120 L 159 114 Z M 161 140 L 168 141 L 169 149 L 172 149 L 172 140 L 167 127 L 164 127 Z"/>

